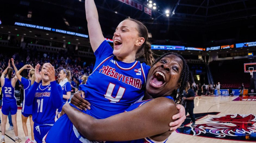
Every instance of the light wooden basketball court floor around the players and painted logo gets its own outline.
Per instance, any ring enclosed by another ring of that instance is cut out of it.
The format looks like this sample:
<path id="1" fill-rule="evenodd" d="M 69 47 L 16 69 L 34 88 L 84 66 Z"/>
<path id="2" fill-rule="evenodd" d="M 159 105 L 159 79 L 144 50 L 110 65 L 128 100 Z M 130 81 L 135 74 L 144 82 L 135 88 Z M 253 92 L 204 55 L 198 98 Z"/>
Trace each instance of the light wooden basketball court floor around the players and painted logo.
<path id="1" fill-rule="evenodd" d="M 253 114 L 256 115 L 256 101 L 232 101 L 238 96 L 234 97 L 226 97 L 226 96 L 202 96 L 201 99 L 198 97 L 195 98 L 195 109 L 194 113 L 206 113 L 206 112 L 220 112 L 218 115 L 208 115 L 200 119 L 200 121 L 196 121 L 196 124 L 201 124 L 205 118 L 210 118 L 212 116 L 221 116 L 224 114 Z M 2 115 L 2 112 L 0 112 Z M 2 117 L 1 117 L 2 119 Z M 21 110 L 18 110 L 17 113 L 17 124 L 18 124 L 18 133 L 19 137 L 22 139 L 22 142 L 25 142 L 25 134 L 23 132 L 22 123 L 21 123 Z M 187 126 L 189 126 L 188 124 Z M 30 132 L 30 125 L 29 121 L 27 122 L 28 132 Z M 255 124 L 256 127 L 256 124 Z M 7 122 L 6 129 L 9 128 L 9 124 Z M 256 128 L 255 132 L 256 134 Z M 252 134 L 253 134 L 252 133 Z M 15 139 L 15 135 L 13 130 L 6 131 L 5 141 L 6 143 L 13 143 L 12 139 Z M 29 137 L 31 139 L 31 134 L 29 133 Z M 12 138 L 12 139 L 11 139 Z M 206 138 L 206 137 L 199 137 L 193 136 L 188 134 L 181 134 L 174 132 L 167 140 L 167 143 L 245 143 L 245 141 L 234 141 L 234 140 L 224 140 L 218 138 Z M 256 142 L 256 140 L 255 140 Z"/>

